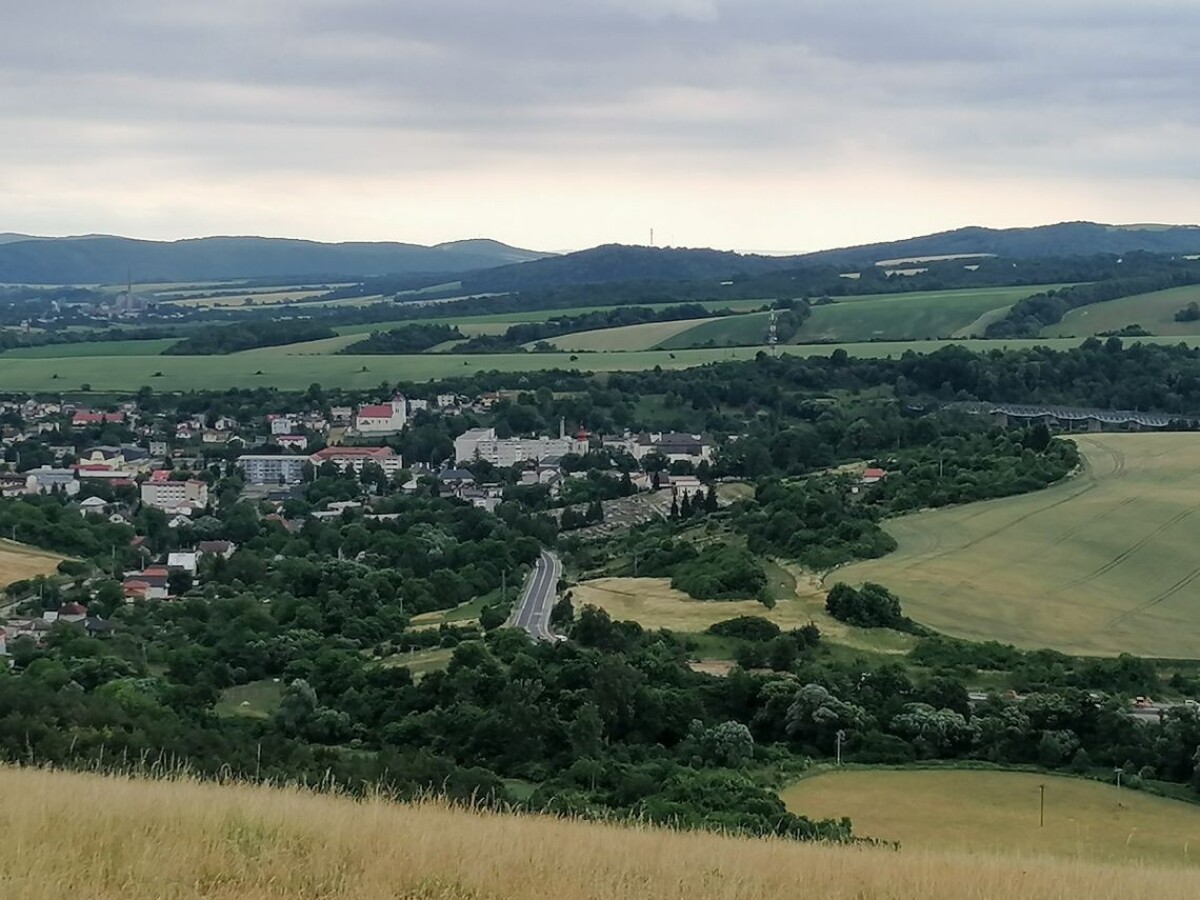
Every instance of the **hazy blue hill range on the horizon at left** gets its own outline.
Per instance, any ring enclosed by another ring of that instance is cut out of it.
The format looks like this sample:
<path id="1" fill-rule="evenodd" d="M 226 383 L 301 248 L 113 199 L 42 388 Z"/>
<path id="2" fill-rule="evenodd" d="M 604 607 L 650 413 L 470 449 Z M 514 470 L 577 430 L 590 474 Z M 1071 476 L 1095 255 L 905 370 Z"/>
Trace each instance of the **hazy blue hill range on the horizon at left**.
<path id="1" fill-rule="evenodd" d="M 0 235 L 0 282 L 91 284 L 259 277 L 355 278 L 490 269 L 545 257 L 493 240 L 320 244 L 286 238 L 144 241 L 110 235 Z"/>

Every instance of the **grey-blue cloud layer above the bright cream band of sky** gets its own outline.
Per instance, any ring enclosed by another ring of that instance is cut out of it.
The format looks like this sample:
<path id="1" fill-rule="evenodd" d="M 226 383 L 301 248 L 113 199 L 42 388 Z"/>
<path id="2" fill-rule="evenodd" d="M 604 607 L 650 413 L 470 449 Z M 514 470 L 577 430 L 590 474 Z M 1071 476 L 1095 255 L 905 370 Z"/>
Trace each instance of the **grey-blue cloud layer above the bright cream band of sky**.
<path id="1" fill-rule="evenodd" d="M 50 157 L 222 172 L 812 166 L 877 148 L 964 172 L 1192 178 L 1198 38 L 1200 7 L 1175 1 L 48 0 L 0 32 L 0 126 Z"/>

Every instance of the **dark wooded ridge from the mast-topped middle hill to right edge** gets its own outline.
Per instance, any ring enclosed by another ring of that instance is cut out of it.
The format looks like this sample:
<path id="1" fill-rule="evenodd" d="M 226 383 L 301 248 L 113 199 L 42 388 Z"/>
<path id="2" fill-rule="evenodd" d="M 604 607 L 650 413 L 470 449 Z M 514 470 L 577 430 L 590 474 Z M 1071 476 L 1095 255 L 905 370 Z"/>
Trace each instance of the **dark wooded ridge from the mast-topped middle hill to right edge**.
<path id="1" fill-rule="evenodd" d="M 1008 259 L 1034 259 L 1133 251 L 1200 253 L 1200 227 L 1108 226 L 1094 222 L 1004 229 L 972 226 L 920 238 L 788 257 L 608 244 L 478 272 L 464 278 L 463 287 L 478 292 L 532 290 L 620 281 L 743 278 L 818 265 L 857 270 L 884 259 L 914 257 L 989 254 Z"/>

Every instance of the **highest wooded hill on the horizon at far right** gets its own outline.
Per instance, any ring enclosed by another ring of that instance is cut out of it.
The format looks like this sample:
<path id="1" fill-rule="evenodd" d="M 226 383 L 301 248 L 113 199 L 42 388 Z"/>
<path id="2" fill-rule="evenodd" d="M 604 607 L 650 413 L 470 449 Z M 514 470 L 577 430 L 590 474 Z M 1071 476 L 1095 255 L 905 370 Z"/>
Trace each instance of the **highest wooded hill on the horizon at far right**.
<path id="1" fill-rule="evenodd" d="M 1096 253 L 1200 253 L 1200 226 L 1110 226 L 1061 222 L 1033 228 L 980 228 L 926 234 L 882 244 L 864 244 L 805 253 L 802 264 L 860 265 L 881 259 L 990 253 L 1013 259 L 1073 257 Z"/>

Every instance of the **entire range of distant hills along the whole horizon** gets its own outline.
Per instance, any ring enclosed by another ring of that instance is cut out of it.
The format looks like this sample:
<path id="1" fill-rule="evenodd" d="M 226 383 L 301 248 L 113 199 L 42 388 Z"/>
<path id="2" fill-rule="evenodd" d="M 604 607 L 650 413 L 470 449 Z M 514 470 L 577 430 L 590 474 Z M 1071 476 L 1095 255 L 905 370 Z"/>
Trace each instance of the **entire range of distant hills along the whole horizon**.
<path id="1" fill-rule="evenodd" d="M 738 278 L 803 266 L 860 269 L 887 259 L 991 254 L 1013 259 L 1097 253 L 1200 253 L 1200 226 L 1063 222 L 1034 228 L 958 228 L 790 257 L 610 244 L 552 254 L 493 240 L 319 244 L 284 238 L 144 241 L 95 234 L 36 238 L 0 233 L 0 283 L 89 284 L 232 278 L 354 280 L 446 276 L 472 292 L 527 290 L 618 281 Z M 433 283 L 437 278 L 431 278 Z"/>

